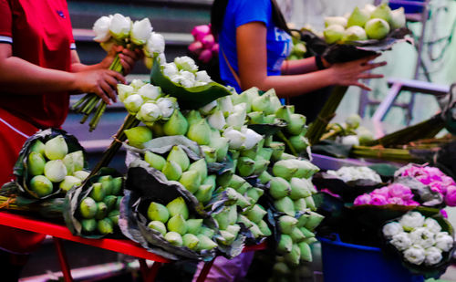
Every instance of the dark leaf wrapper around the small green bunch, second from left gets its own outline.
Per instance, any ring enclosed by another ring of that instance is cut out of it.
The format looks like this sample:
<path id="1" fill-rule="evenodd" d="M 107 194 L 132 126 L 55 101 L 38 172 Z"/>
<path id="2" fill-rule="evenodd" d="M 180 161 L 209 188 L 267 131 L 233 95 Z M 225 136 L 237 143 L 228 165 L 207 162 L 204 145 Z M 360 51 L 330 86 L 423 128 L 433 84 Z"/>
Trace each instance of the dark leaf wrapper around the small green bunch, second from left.
<path id="1" fill-rule="evenodd" d="M 71 232 L 72 235 L 78 235 L 80 237 L 89 238 L 89 239 L 99 239 L 105 237 L 107 235 L 99 235 L 99 234 L 85 234 L 82 231 L 82 225 L 80 220 L 80 214 L 78 211 L 79 204 L 81 201 L 86 198 L 93 190 L 91 187 L 93 183 L 98 182 L 98 178 L 104 175 L 111 175 L 112 177 L 119 177 L 123 176 L 121 173 L 117 172 L 111 168 L 101 168 L 99 172 L 95 175 L 89 177 L 82 186 L 80 187 L 73 187 L 70 191 L 67 192 L 65 196 L 65 203 L 64 203 L 64 211 L 63 217 L 65 219 L 65 223 Z M 125 185 L 125 181 L 123 181 L 122 186 Z M 123 191 L 123 188 L 122 188 Z M 114 234 L 109 236 L 116 236 L 119 233 L 116 233 L 116 226 L 114 226 Z"/>

